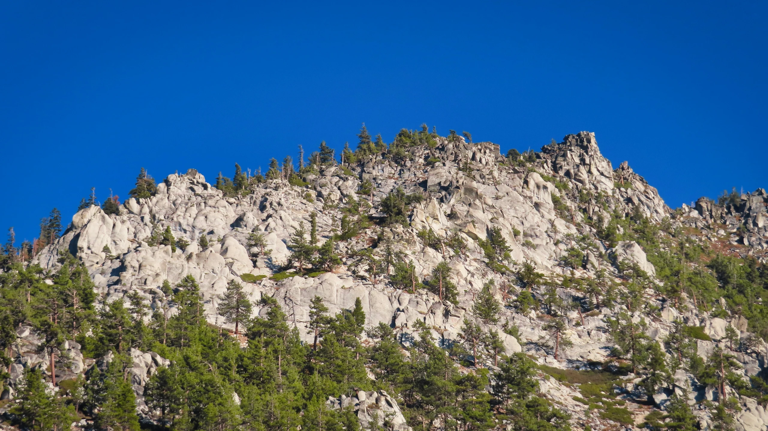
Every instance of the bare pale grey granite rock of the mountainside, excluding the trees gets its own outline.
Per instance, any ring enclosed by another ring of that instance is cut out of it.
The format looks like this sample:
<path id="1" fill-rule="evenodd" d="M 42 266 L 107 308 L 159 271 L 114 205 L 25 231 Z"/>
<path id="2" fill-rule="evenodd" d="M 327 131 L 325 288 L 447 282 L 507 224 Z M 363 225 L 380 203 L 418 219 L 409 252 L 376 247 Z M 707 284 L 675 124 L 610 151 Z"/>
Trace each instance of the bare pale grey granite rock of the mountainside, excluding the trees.
<path id="1" fill-rule="evenodd" d="M 541 153 L 536 153 L 535 162 L 527 167 L 506 160 L 499 153 L 498 145 L 466 143 L 461 137 L 455 141 L 439 138 L 433 149 L 414 147 L 407 151 L 408 157 L 401 163 L 375 156 L 344 169 L 323 166 L 303 176 L 309 186 L 292 186 L 285 180 L 271 179 L 254 183 L 246 196 L 237 197 L 224 196 L 194 169 L 172 174 L 158 185 L 156 195 L 150 199 L 125 201 L 119 215 L 108 216 L 96 206 L 81 210 L 74 215 L 64 235 L 38 254 L 35 262 L 43 268 L 54 269 L 58 265 L 58 253 L 71 252 L 84 262 L 98 293 L 108 301 L 127 301 L 126 295 L 136 291 L 152 309 L 170 314 L 175 311 L 167 306 L 167 298 L 160 290 L 163 281 L 174 285 L 192 275 L 200 285 L 207 320 L 227 328 L 232 325 L 225 323 L 216 311 L 218 295 L 225 291 L 229 281 L 237 280 L 254 303 L 263 295 L 276 298 L 288 321 L 299 328 L 304 341 L 312 337 L 308 329 L 312 298 L 323 298 L 330 314 L 353 308 L 359 298 L 366 313 L 366 327 L 388 324 L 404 345 L 415 337 L 413 327 L 420 321 L 432 329 L 439 345 L 449 346 L 459 341 L 462 322 L 468 318 L 485 331 L 498 331 L 505 350 L 500 354 L 522 351 L 536 357 L 541 364 L 561 368 L 586 367 L 607 360 L 614 347 L 607 318 L 627 311 L 624 305 L 601 308 L 589 315 L 569 311 L 565 335 L 573 347 L 562 352 L 558 360 L 554 360 L 551 348 L 543 341 L 548 336 L 543 329 L 546 322 L 535 313 L 521 314 L 515 308 L 502 308 L 495 324 L 475 317 L 472 304 L 488 281 L 494 281 L 492 293 L 503 304 L 514 301 L 523 290 L 514 278 L 503 276 L 486 265 L 481 242 L 488 239 L 490 232 L 499 232 L 509 247 L 510 259 L 506 263 L 511 271 L 530 264 L 545 276 L 592 278 L 601 271 L 609 278 L 618 278 L 624 266 L 634 265 L 653 278 L 655 268 L 637 242 L 621 241 L 611 247 L 599 241 L 595 234 L 601 225 L 584 223 L 584 215 L 604 225 L 616 213 L 663 222 L 674 217 L 674 213 L 657 190 L 626 162 L 613 169 L 611 162 L 601 155 L 594 133 L 589 132 L 568 135 L 561 143 L 544 146 Z M 372 184 L 372 192 L 358 193 L 365 182 Z M 337 242 L 336 250 L 343 258 L 343 265 L 333 272 L 279 281 L 269 278 L 286 265 L 291 235 L 301 225 L 310 225 L 313 212 L 317 214 L 319 244 L 322 244 L 339 228 L 342 217 L 339 205 L 349 204 L 352 199 L 365 201 L 369 207 L 361 206 L 363 212 L 371 219 L 380 219 L 382 199 L 396 189 L 407 194 L 419 193 L 423 198 L 409 210 L 404 225 L 372 227 L 353 239 Z M 760 209 L 761 202 L 768 201 L 765 192 L 760 193 L 741 196 L 739 202 L 724 207 L 701 201 L 696 209 L 688 208 L 685 223 L 698 226 L 700 222 L 746 217 L 752 230 L 739 241 L 763 244 L 762 239 L 754 236 L 765 235 L 764 230 L 768 229 Z M 170 245 L 150 245 L 153 233 L 167 227 L 175 239 L 184 239 L 189 245 L 175 251 Z M 465 252 L 425 244 L 418 234 L 430 230 L 441 239 L 458 235 L 466 244 Z M 271 252 L 269 256 L 259 255 L 257 247 L 249 248 L 251 232 L 264 235 L 266 249 Z M 577 236 L 591 238 L 591 245 L 584 252 L 583 265 L 573 268 L 564 264 L 564 258 Z M 200 245 L 205 243 L 200 241 L 202 238 L 207 240 L 204 247 Z M 440 301 L 429 291 L 396 288 L 386 277 L 373 278 L 368 268 L 356 265 L 352 252 L 379 239 L 413 262 L 415 275 L 422 280 L 429 278 L 440 262 L 449 262 L 452 281 L 458 288 L 458 304 Z M 105 247 L 111 252 L 105 252 Z M 243 275 L 247 274 L 267 277 L 251 283 L 243 281 Z M 532 294 L 543 298 L 541 288 Z M 567 288 L 558 288 L 557 294 L 565 301 L 578 304 L 588 304 L 591 299 L 583 291 Z M 743 337 L 748 335 L 746 321 L 716 321 L 700 315 L 693 306 L 677 309 L 653 295 L 648 295 L 647 301 L 660 310 L 660 317 L 651 319 L 635 312 L 634 318 L 637 321 L 645 318 L 648 335 L 654 341 L 662 341 L 673 322 L 679 319 L 689 325 L 706 325 L 707 334 L 717 341 L 725 331 L 723 322 L 739 328 Z M 253 308 L 254 315 L 265 312 L 266 309 Z M 505 334 L 505 324 L 518 327 L 519 336 Z M 34 334 L 28 336 L 34 337 Z M 705 357 L 716 341 L 699 342 L 703 343 L 699 354 Z M 766 354 L 768 351 L 761 344 L 739 360 L 753 375 L 763 370 Z M 137 395 L 156 367 L 165 364 L 155 356 L 152 352 L 131 350 L 134 358 L 131 383 Z M 22 357 L 28 359 L 22 359 L 18 365 L 21 367 L 45 361 L 31 351 Z M 493 360 L 486 358 L 478 365 L 493 367 Z M 12 376 L 18 374 L 17 366 L 13 367 Z M 74 368 L 72 371 L 74 373 Z M 670 393 L 684 387 L 692 400 L 707 396 L 690 374 L 675 374 L 675 379 L 679 387 L 675 383 L 675 387 L 667 388 Z M 627 393 L 633 393 L 636 386 L 632 381 L 627 382 Z M 564 411 L 574 417 L 584 416 L 586 406 L 573 400 L 578 392 L 572 388 L 554 380 L 542 380 L 541 390 Z M 664 396 L 657 398 L 658 404 L 664 403 Z M 142 414 L 149 414 L 141 396 L 137 404 Z M 409 429 L 397 401 L 382 391 L 330 398 L 327 404 L 331 408 L 352 406 L 366 429 L 375 421 L 381 425 L 385 419 L 392 424 L 392 429 Z M 763 419 L 766 413 L 760 413 L 760 408 L 750 404 L 749 409 L 743 410 L 740 416 L 743 419 L 737 420 L 744 429 L 768 423 Z M 701 420 L 706 425 L 707 418 Z"/>

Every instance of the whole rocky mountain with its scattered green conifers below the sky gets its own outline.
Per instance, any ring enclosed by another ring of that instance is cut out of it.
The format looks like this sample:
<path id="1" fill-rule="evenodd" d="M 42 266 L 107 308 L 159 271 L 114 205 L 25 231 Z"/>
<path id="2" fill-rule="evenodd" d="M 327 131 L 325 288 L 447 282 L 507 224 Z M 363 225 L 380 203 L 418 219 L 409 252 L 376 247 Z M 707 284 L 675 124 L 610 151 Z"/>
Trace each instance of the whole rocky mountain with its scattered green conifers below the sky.
<path id="1" fill-rule="evenodd" d="M 10 239 L 2 426 L 766 429 L 765 190 L 673 210 L 588 132 L 358 138 Z"/>

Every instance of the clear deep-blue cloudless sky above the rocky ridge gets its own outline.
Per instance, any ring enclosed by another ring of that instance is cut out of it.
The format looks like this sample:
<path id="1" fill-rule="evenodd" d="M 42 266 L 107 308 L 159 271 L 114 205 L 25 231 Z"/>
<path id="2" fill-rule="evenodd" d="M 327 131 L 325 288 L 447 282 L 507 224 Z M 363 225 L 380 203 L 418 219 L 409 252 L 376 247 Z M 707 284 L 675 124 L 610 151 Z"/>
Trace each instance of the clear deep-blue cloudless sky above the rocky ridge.
<path id="1" fill-rule="evenodd" d="M 671 3 L 676 3 L 672 5 Z M 265 168 L 360 123 L 503 150 L 590 130 L 676 207 L 768 187 L 766 3 L 2 2 L 0 229 L 141 168 Z M 4 234 L 0 234 L 4 235 Z M 5 242 L 4 237 L 0 242 Z"/>

